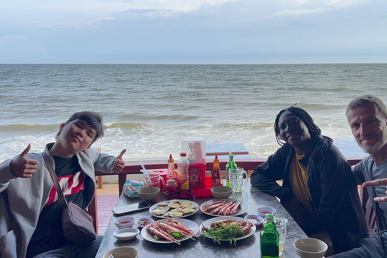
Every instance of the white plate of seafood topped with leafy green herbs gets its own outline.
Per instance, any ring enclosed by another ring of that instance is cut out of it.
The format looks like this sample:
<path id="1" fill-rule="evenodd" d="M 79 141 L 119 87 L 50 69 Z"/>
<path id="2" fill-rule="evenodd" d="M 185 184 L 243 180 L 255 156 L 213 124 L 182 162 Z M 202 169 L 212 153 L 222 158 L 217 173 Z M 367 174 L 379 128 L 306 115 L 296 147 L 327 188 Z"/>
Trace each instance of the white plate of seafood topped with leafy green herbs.
<path id="1" fill-rule="evenodd" d="M 214 242 L 229 241 L 235 244 L 237 240 L 251 236 L 256 230 L 253 223 L 240 217 L 216 217 L 200 225 L 200 233 Z"/>

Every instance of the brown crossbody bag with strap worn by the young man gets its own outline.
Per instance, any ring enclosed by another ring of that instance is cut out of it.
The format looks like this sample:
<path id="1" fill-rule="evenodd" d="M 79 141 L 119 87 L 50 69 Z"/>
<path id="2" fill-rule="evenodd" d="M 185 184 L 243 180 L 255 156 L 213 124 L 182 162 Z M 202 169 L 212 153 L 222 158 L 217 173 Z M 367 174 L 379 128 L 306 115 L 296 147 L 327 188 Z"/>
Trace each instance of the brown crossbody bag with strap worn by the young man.
<path id="1" fill-rule="evenodd" d="M 42 152 L 41 155 L 47 165 L 48 171 L 50 171 L 52 181 L 58 193 L 59 205 L 62 207 L 64 237 L 77 245 L 87 246 L 91 244 L 96 238 L 92 218 L 73 201 L 66 201 L 48 155 L 45 152 Z"/>

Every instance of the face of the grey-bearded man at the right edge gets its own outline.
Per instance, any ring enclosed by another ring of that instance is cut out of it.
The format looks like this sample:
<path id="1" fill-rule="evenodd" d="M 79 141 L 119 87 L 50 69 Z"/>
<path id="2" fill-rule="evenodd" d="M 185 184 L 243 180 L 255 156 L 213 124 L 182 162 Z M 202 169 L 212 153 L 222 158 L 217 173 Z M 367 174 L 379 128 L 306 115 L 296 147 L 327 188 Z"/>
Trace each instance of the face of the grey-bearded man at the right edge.
<path id="1" fill-rule="evenodd" d="M 377 114 L 373 103 L 365 103 L 347 113 L 357 144 L 366 153 L 376 153 L 387 143 L 387 121 Z"/>

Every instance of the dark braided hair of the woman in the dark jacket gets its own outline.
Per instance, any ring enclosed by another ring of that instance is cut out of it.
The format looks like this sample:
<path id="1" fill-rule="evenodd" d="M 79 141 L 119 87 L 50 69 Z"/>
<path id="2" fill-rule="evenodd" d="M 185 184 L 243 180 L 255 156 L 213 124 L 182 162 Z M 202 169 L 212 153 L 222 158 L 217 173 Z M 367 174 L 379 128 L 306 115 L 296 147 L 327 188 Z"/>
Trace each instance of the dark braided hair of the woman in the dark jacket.
<path id="1" fill-rule="evenodd" d="M 299 107 L 289 107 L 289 108 L 286 108 L 286 109 L 283 109 L 281 110 L 277 117 L 276 117 L 276 121 L 274 122 L 274 131 L 276 133 L 276 140 L 277 140 L 277 143 L 281 146 L 285 146 L 286 143 L 283 142 L 284 139 L 282 139 L 281 137 L 281 133 L 280 133 L 280 127 L 278 126 L 278 122 L 280 120 L 280 116 L 282 115 L 282 113 L 284 113 L 285 111 L 290 111 L 292 112 L 295 116 L 297 116 L 298 118 L 301 119 L 301 121 L 306 125 L 306 127 L 308 128 L 309 130 L 309 134 L 310 134 L 310 139 L 312 141 L 317 141 L 317 138 L 321 135 L 321 130 L 320 128 L 314 123 L 312 117 L 305 111 L 303 110 L 302 108 L 299 108 Z"/>

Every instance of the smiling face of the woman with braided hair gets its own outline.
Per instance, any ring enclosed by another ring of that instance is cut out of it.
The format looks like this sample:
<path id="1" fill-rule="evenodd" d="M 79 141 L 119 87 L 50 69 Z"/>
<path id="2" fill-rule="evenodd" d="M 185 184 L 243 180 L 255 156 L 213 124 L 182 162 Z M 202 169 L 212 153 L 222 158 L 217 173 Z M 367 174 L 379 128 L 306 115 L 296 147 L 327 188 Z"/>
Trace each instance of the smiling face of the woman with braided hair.
<path id="1" fill-rule="evenodd" d="M 290 111 L 285 111 L 281 114 L 278 120 L 278 127 L 282 139 L 293 147 L 301 146 L 305 142 L 310 141 L 308 127 L 298 116 Z"/>

